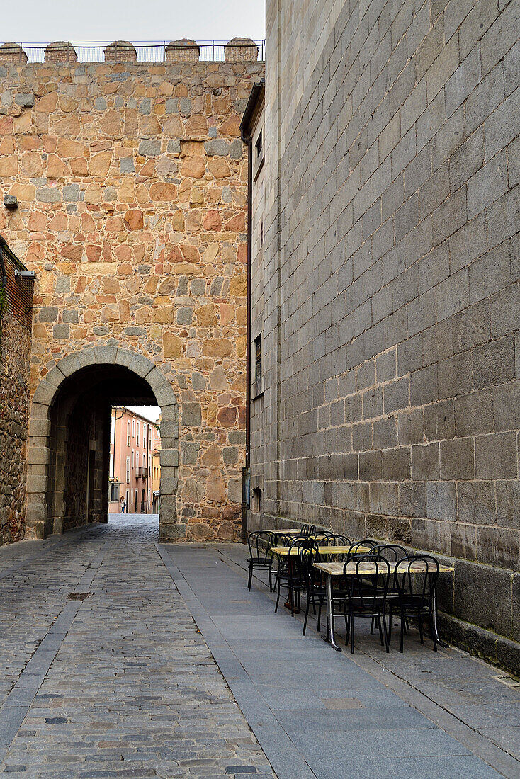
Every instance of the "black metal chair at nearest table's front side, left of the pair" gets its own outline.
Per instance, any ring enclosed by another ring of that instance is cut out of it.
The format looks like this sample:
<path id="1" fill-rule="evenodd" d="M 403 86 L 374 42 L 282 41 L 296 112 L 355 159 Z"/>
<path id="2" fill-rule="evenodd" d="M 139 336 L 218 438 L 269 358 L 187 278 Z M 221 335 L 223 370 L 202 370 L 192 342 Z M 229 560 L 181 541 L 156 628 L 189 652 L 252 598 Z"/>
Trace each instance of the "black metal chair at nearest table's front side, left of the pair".
<path id="1" fill-rule="evenodd" d="M 390 565 L 380 555 L 365 555 L 351 561 L 356 566 L 356 572 L 347 575 L 348 562 L 343 566 L 346 589 L 347 634 L 345 646 L 350 637 L 351 652 L 354 654 L 354 622 L 356 617 L 368 617 L 377 622 L 381 646 L 386 651 L 388 647 L 387 623 L 385 612 L 387 606 L 388 584 L 390 582 Z M 375 566 L 371 573 L 371 566 Z M 381 627 L 381 622 L 383 626 Z"/>

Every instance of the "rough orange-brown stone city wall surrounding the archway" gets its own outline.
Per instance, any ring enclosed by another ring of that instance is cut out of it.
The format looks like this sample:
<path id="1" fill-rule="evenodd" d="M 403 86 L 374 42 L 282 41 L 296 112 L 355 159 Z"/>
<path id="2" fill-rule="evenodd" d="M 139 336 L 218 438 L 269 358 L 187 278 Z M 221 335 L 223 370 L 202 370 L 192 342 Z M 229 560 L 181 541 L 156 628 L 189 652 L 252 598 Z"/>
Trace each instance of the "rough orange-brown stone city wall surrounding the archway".
<path id="1" fill-rule="evenodd" d="M 239 122 L 263 70 L 0 68 L 0 195 L 19 200 L 0 212 L 0 229 L 37 273 L 31 393 L 61 358 L 93 345 L 138 352 L 161 369 L 181 414 L 182 524 L 170 538 L 238 537 L 247 184 Z"/>

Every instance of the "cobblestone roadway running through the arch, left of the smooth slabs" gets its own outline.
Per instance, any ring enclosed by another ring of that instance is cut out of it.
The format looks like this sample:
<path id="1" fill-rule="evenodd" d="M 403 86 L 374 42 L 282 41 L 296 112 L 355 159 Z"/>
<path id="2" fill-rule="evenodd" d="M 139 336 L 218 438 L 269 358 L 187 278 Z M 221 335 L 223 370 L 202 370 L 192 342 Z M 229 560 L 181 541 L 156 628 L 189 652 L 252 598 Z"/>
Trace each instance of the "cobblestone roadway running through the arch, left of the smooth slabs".
<path id="1" fill-rule="evenodd" d="M 130 514 L 0 548 L 0 774 L 274 777 L 155 541 Z"/>

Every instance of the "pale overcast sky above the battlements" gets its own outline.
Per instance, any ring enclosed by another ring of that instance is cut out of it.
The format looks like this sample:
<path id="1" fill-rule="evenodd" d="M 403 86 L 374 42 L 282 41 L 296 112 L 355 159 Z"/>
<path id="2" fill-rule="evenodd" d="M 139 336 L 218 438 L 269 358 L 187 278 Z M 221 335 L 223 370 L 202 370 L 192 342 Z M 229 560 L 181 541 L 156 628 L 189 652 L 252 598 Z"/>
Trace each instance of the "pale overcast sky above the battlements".
<path id="1" fill-rule="evenodd" d="M 265 37 L 264 0 L 2 2 L 2 41 L 229 41 Z"/>

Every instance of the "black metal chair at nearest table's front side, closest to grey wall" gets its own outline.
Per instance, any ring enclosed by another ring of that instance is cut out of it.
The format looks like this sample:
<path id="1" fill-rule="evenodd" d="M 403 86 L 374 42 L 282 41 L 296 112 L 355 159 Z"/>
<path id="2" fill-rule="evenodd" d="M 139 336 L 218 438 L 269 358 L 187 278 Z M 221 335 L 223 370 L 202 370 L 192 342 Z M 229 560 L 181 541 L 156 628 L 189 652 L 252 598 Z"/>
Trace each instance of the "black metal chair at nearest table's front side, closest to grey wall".
<path id="1" fill-rule="evenodd" d="M 405 622 L 410 615 L 417 618 L 421 643 L 424 643 L 423 617 L 428 617 L 433 650 L 437 652 L 437 638 L 433 626 L 433 594 L 437 587 L 438 577 L 439 563 L 432 555 L 409 555 L 399 560 L 395 567 L 394 582 L 398 588 L 397 608 L 401 617 L 401 644 L 399 651 L 403 651 Z M 390 643 L 392 601 L 389 601 L 388 606 L 390 616 L 388 643 Z"/>

